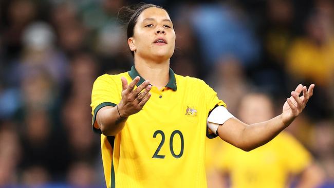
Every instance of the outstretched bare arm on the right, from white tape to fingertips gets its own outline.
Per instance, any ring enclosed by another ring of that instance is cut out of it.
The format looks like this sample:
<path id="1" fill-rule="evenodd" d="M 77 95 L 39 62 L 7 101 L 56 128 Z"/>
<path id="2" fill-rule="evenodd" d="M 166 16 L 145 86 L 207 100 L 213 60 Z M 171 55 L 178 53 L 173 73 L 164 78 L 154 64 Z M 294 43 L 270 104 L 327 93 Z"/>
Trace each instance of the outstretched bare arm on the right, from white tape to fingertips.
<path id="1" fill-rule="evenodd" d="M 314 84 L 308 90 L 306 86 L 298 85 L 284 103 L 282 114 L 271 120 L 247 125 L 236 118 L 228 119 L 218 126 L 219 137 L 244 151 L 251 151 L 269 142 L 301 114 L 313 94 L 313 88 Z M 299 97 L 302 91 L 303 96 Z"/>

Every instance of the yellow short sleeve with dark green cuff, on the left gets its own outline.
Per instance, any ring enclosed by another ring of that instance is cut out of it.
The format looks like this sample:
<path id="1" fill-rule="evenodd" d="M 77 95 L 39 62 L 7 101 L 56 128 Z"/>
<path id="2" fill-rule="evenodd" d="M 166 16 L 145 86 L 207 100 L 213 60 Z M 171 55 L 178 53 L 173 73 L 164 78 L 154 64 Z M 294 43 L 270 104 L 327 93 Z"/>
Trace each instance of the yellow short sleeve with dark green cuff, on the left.
<path id="1" fill-rule="evenodd" d="M 121 98 L 121 90 L 113 80 L 112 76 L 103 74 L 94 82 L 91 91 L 91 114 L 92 128 L 95 133 L 100 133 L 100 129 L 94 126 L 97 112 L 104 106 L 116 106 Z"/>

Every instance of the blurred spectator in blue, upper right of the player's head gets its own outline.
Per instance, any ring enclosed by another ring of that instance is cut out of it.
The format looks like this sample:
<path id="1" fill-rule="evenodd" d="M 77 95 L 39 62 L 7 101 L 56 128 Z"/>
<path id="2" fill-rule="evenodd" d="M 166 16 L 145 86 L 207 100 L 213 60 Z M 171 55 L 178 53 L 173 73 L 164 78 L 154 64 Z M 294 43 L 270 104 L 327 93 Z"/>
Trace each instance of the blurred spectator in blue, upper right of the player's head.
<path id="1" fill-rule="evenodd" d="M 257 61 L 259 44 L 238 5 L 198 4 L 191 19 L 207 66 L 212 67 L 221 56 L 230 54 L 238 57 L 245 67 Z"/>

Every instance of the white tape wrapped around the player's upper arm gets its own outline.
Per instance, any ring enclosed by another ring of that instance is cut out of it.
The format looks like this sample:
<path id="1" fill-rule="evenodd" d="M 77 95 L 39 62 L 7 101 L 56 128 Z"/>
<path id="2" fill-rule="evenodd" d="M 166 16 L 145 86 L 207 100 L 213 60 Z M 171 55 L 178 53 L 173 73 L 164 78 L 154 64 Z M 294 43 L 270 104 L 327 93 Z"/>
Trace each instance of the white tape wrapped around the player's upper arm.
<path id="1" fill-rule="evenodd" d="M 218 126 L 224 124 L 230 118 L 234 118 L 234 116 L 224 106 L 217 106 L 211 111 L 207 119 L 207 126 L 216 134 Z"/>

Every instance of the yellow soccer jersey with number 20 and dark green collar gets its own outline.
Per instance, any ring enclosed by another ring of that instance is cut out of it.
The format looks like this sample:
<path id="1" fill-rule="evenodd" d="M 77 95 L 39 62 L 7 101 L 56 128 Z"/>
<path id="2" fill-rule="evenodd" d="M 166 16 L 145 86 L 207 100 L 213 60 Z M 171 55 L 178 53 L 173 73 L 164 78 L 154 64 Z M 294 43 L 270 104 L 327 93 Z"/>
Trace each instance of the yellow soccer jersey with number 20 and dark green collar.
<path id="1" fill-rule="evenodd" d="M 143 109 L 130 116 L 116 136 L 101 134 L 102 160 L 107 187 L 206 187 L 207 117 L 216 105 L 225 105 L 205 82 L 174 74 Z M 91 107 L 94 130 L 96 114 L 103 106 L 121 100 L 121 77 L 130 83 L 139 76 L 135 67 L 117 75 L 104 74 L 94 83 Z M 139 86 L 144 81 L 140 77 Z"/>

